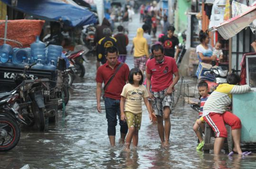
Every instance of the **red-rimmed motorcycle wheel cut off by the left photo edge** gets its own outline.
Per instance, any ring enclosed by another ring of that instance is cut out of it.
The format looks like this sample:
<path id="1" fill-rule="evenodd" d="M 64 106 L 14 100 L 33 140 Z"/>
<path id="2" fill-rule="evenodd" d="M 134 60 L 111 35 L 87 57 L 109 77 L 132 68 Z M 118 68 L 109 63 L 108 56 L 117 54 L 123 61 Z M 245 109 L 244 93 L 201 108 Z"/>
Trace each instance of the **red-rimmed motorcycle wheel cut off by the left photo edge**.
<path id="1" fill-rule="evenodd" d="M 0 116 L 0 152 L 14 148 L 18 144 L 19 137 L 18 123 L 6 116 Z"/>

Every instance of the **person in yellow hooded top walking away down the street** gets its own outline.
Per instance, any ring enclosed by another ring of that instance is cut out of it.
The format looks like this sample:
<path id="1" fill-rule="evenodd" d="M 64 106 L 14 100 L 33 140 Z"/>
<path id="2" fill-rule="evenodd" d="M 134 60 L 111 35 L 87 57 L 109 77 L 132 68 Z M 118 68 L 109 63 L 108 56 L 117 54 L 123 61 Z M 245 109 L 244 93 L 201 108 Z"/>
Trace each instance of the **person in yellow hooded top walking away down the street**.
<path id="1" fill-rule="evenodd" d="M 149 58 L 148 54 L 148 45 L 146 38 L 143 37 L 143 29 L 137 29 L 137 35 L 133 38 L 133 46 L 131 49 L 131 54 L 133 53 L 134 48 L 134 68 L 139 68 L 144 74 L 146 67 L 146 60 Z"/>

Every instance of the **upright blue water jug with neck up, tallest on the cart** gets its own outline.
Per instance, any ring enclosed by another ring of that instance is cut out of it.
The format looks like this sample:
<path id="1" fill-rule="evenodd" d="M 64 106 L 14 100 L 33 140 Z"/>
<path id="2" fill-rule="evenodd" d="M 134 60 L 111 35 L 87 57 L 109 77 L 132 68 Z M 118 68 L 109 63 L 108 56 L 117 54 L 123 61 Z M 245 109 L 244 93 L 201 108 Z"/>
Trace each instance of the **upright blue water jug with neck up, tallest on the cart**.
<path id="1" fill-rule="evenodd" d="M 34 59 L 41 59 L 42 63 L 46 62 L 46 44 L 39 40 L 39 36 L 36 36 L 36 42 L 30 45 L 31 55 Z"/>

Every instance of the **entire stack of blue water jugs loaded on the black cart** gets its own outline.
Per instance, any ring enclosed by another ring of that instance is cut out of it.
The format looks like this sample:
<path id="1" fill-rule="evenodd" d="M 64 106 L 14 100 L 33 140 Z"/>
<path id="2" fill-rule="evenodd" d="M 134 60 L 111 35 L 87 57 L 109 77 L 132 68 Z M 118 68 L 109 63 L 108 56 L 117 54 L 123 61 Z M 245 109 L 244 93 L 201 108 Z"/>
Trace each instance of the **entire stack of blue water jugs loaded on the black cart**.
<path id="1" fill-rule="evenodd" d="M 37 63 L 32 68 L 36 69 L 56 69 L 58 57 L 61 57 L 62 46 L 49 45 L 39 40 L 30 45 L 30 48 L 12 48 L 9 44 L 0 46 L 0 65 L 22 67 Z"/>

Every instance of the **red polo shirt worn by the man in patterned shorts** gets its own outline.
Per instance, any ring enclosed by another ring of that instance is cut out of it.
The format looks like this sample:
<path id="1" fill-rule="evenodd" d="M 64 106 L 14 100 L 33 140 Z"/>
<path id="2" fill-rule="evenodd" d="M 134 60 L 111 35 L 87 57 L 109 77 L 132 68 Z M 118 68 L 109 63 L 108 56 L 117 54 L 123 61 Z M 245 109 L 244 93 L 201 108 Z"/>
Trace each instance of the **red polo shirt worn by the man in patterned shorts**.
<path id="1" fill-rule="evenodd" d="M 164 58 L 164 62 L 159 64 L 151 59 L 146 64 L 146 73 L 151 74 L 151 86 L 153 92 L 165 90 L 173 83 L 173 74 L 178 72 L 176 62 L 171 57 Z"/>

